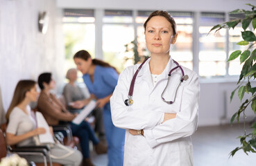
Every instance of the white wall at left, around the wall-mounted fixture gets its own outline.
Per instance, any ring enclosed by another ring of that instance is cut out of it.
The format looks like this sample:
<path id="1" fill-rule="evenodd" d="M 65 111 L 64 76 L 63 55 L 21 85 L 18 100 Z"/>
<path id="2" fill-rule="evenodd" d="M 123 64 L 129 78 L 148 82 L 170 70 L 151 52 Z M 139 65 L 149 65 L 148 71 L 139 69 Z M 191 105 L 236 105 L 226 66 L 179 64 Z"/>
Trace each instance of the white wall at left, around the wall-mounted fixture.
<path id="1" fill-rule="evenodd" d="M 49 12 L 49 29 L 37 28 L 39 12 Z M 44 71 L 56 80 L 64 77 L 62 15 L 55 0 L 0 0 L 0 86 L 3 108 L 10 104 L 19 80 L 37 80 Z"/>

